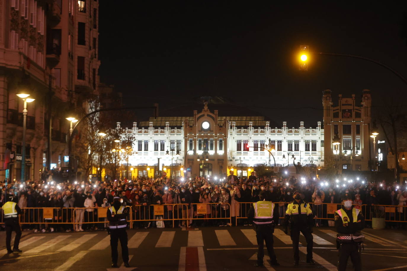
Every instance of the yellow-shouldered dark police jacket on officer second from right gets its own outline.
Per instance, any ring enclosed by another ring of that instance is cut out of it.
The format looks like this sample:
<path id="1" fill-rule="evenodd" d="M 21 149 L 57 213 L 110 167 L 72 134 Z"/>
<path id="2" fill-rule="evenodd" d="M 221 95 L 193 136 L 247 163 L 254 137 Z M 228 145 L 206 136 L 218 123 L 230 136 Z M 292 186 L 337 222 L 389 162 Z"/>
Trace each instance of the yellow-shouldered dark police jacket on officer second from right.
<path id="1" fill-rule="evenodd" d="M 312 227 L 314 219 L 312 215 L 312 209 L 308 202 L 300 200 L 297 203 L 295 200 L 290 202 L 285 211 L 283 225 L 287 226 L 288 223 L 293 225 L 302 225 Z"/>

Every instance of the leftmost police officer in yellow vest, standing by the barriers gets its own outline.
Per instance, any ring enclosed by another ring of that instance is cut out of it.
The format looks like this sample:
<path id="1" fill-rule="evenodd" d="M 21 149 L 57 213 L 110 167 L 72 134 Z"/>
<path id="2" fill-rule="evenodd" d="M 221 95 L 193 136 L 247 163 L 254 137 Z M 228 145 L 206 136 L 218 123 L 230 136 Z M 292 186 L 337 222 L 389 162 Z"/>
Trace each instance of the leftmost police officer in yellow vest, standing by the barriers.
<path id="1" fill-rule="evenodd" d="M 7 194 L 6 194 L 7 200 Z M 21 228 L 20 224 L 18 223 L 18 215 L 22 214 L 20 207 L 18 207 L 17 203 L 9 200 L 2 206 L 3 214 L 4 214 L 4 225 L 6 228 L 6 247 L 7 247 L 7 254 L 13 252 L 22 252 L 18 249 L 18 244 L 20 243 L 21 237 Z M 14 247 L 11 250 L 11 232 L 15 231 L 15 239 L 14 239 Z"/>

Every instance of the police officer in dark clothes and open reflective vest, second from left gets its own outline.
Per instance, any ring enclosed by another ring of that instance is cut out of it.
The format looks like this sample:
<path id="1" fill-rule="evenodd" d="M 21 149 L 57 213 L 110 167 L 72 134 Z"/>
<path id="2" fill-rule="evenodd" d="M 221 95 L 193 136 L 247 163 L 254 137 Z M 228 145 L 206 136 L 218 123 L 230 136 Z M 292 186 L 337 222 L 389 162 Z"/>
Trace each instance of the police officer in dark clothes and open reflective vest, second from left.
<path id="1" fill-rule="evenodd" d="M 117 245 L 120 239 L 122 247 L 122 258 L 125 267 L 129 267 L 129 248 L 127 247 L 127 216 L 125 206 L 120 203 L 120 197 L 113 198 L 113 206 L 107 209 L 107 220 L 109 220 L 110 247 L 112 248 L 112 267 L 118 267 Z"/>

